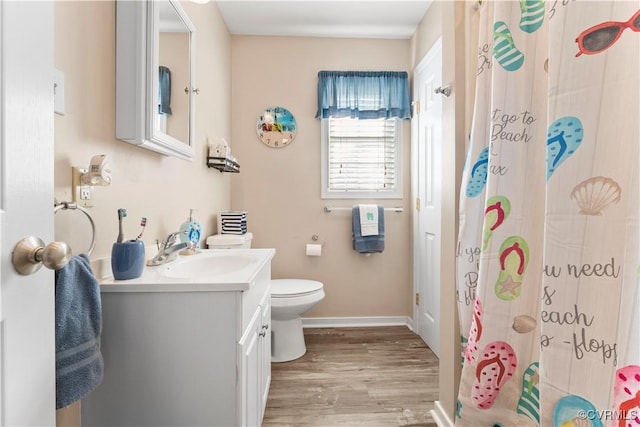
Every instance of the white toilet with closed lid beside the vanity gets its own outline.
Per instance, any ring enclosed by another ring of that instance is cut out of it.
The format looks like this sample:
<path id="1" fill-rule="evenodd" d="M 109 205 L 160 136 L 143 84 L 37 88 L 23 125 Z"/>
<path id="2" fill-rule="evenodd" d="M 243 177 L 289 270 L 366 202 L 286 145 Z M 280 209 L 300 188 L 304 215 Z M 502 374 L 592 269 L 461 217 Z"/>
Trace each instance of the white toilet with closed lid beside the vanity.
<path id="1" fill-rule="evenodd" d="M 253 235 L 216 234 L 209 249 L 250 248 Z M 271 280 L 271 361 L 288 362 L 307 352 L 301 316 L 324 298 L 322 282 L 306 279 Z"/>

